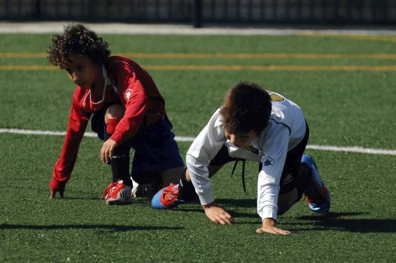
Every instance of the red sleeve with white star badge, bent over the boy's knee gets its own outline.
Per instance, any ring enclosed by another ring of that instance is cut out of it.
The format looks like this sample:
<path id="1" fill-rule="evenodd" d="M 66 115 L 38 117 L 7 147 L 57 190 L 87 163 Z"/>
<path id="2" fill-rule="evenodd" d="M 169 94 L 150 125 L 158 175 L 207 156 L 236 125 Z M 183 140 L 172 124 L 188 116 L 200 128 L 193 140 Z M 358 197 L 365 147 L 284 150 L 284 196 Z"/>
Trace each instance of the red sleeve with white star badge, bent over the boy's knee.
<path id="1" fill-rule="evenodd" d="M 125 105 L 125 114 L 110 139 L 122 144 L 135 136 L 146 115 L 149 98 L 138 74 L 129 63 L 116 61 L 111 65 L 116 78 L 118 94 Z"/>

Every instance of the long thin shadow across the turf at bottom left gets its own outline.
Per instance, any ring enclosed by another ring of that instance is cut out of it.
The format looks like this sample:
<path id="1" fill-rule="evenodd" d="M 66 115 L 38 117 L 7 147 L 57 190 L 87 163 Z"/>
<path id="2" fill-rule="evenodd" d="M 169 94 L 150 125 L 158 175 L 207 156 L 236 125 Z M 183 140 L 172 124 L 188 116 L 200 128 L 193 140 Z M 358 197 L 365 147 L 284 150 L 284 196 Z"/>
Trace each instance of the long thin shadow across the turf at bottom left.
<path id="1" fill-rule="evenodd" d="M 139 230 L 182 230 L 184 227 L 169 226 L 133 226 L 115 224 L 65 224 L 65 225 L 24 225 L 24 224 L 0 224 L 0 229 L 32 229 L 32 230 L 53 230 L 53 229 L 108 229 L 114 231 L 139 231 Z"/>

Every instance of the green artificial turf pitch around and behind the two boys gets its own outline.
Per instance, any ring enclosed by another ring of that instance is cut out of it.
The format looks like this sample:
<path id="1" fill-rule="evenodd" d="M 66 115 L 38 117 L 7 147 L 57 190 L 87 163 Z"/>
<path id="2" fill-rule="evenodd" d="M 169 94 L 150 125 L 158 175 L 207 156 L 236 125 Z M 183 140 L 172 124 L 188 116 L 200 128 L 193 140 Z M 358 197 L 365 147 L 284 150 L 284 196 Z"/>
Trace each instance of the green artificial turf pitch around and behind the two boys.
<path id="1" fill-rule="evenodd" d="M 394 51 L 391 41 L 304 36 L 104 35 L 113 53 L 343 53 Z M 50 35 L 1 35 L 0 52 L 44 53 Z M 158 44 L 160 43 L 160 44 Z M 133 59 L 133 57 L 131 57 Z M 137 58 L 149 65 L 396 65 L 392 59 Z M 45 58 L 5 58 L 1 65 L 48 65 Z M 396 149 L 392 71 L 148 70 L 166 100 L 178 136 L 196 136 L 239 80 L 255 81 L 303 109 L 309 144 Z M 74 85 L 60 70 L 0 70 L 0 128 L 64 131 Z M 89 128 L 88 128 L 89 129 Z M 64 199 L 48 183 L 63 136 L 0 133 L 1 262 L 395 262 L 396 160 L 391 155 L 307 150 L 332 196 L 331 213 L 312 215 L 298 202 L 279 217 L 290 236 L 258 235 L 257 164 L 215 175 L 213 192 L 236 219 L 215 225 L 199 204 L 173 211 L 149 200 L 106 206 L 111 180 L 101 142 L 85 137 Z M 191 142 L 179 142 L 184 157 Z"/>

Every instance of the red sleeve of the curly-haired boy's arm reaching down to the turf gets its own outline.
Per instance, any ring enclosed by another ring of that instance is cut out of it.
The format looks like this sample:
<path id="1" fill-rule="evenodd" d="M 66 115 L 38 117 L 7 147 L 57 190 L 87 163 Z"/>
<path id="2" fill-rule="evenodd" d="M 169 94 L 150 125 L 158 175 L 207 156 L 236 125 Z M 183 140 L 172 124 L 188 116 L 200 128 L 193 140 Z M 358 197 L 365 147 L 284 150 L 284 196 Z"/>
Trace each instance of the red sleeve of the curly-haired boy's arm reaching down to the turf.
<path id="1" fill-rule="evenodd" d="M 69 122 L 67 125 L 66 136 L 63 142 L 62 152 L 59 159 L 53 167 L 52 180 L 49 183 L 49 188 L 56 190 L 60 183 L 66 183 L 70 179 L 74 164 L 77 159 L 78 148 L 84 132 L 87 128 L 88 121 L 91 117 L 90 113 L 82 109 L 82 99 L 84 92 L 79 92 L 81 89 L 77 87 L 73 94 L 72 106 L 70 110 Z"/>

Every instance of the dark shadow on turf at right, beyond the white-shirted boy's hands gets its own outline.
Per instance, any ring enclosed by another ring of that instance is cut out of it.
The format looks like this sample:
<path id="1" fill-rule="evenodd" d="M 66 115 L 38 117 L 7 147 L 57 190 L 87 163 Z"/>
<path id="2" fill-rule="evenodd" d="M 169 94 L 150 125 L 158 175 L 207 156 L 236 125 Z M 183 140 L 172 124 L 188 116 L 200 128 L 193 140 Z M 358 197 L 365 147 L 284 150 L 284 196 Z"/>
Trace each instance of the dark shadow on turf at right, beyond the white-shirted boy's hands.
<path id="1" fill-rule="evenodd" d="M 395 233 L 396 219 L 345 219 L 342 217 L 359 216 L 369 214 L 367 212 L 351 212 L 351 213 L 328 213 L 326 215 L 312 215 L 299 217 L 300 220 L 313 221 L 315 228 L 321 230 L 341 230 L 350 232 L 363 233 Z M 303 222 L 297 224 L 312 224 L 312 222 Z M 297 229 L 296 229 L 297 230 Z M 308 229 L 305 229 L 308 230 Z M 309 230 L 312 230 L 310 228 Z M 297 230 L 301 231 L 301 229 Z M 302 230 L 304 231 L 304 229 Z"/>

